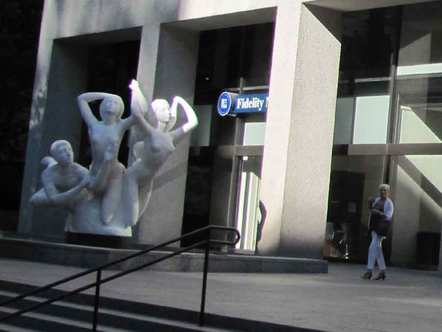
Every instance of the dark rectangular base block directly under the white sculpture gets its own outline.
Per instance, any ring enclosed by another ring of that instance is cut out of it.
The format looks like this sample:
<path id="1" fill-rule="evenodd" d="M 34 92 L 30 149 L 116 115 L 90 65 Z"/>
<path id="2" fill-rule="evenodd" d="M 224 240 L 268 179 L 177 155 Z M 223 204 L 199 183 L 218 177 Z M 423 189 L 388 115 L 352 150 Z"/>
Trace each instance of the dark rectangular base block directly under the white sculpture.
<path id="1" fill-rule="evenodd" d="M 94 247 L 132 249 L 132 239 L 125 236 L 66 232 L 64 241 L 69 244 L 90 245 Z"/>

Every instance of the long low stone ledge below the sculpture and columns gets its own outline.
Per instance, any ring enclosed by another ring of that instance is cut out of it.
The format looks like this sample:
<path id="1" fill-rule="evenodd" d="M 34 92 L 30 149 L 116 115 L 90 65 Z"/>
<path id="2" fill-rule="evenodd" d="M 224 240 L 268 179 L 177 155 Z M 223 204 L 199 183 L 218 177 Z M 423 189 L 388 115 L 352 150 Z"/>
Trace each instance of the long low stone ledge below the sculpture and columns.
<path id="1" fill-rule="evenodd" d="M 87 245 L 57 243 L 35 239 L 0 237 L 0 257 L 75 266 L 84 269 L 110 263 L 111 261 L 137 253 L 138 250 L 93 247 Z M 171 251 L 152 251 L 111 269 L 126 270 L 155 259 Z M 185 252 L 146 268 L 162 272 L 202 272 L 204 254 L 201 250 Z M 210 254 L 209 272 L 235 273 L 327 273 L 328 262 L 318 259 L 291 257 L 264 257 L 231 254 L 214 250 Z"/>

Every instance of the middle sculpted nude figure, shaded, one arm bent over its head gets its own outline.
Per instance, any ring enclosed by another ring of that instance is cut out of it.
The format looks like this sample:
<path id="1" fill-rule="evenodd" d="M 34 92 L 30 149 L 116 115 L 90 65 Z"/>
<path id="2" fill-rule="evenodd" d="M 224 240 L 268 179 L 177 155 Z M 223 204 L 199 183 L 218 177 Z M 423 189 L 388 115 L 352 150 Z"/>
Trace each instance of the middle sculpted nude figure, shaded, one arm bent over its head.
<path id="1" fill-rule="evenodd" d="M 89 102 L 103 99 L 100 104 L 100 116 L 97 120 L 88 105 Z M 133 117 L 121 119 L 124 111 L 123 100 L 104 92 L 87 92 L 78 96 L 78 105 L 89 131 L 92 151 L 90 174 L 93 177 L 89 188 L 94 193 L 102 194 L 100 209 L 101 221 L 106 225 L 112 218 L 118 205 L 124 165 L 118 162 L 118 149 L 124 132 L 133 124 Z"/>

